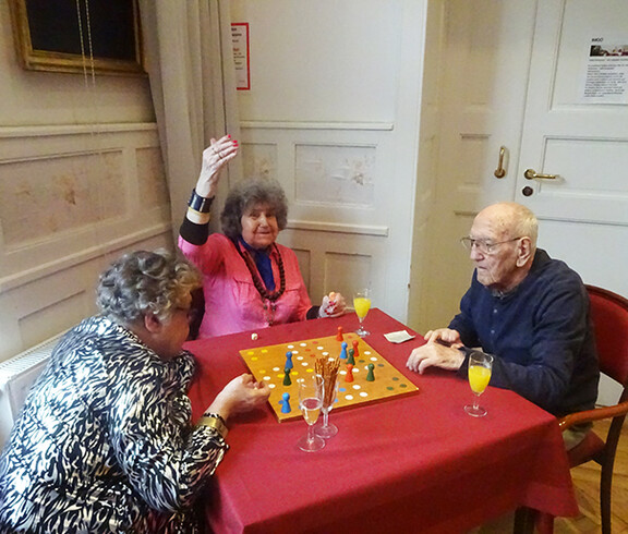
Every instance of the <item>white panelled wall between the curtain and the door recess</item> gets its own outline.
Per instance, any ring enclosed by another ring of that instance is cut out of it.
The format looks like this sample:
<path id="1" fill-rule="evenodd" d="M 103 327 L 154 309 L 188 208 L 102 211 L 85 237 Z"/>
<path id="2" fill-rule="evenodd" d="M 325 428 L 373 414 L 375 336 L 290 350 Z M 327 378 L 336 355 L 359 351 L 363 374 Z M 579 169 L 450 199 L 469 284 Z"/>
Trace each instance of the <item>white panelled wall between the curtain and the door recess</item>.
<path id="1" fill-rule="evenodd" d="M 315 303 L 370 284 L 374 306 L 408 318 L 414 217 L 428 196 L 414 194 L 426 5 L 231 2 L 251 36 L 251 90 L 238 95 L 244 173 L 282 183 L 279 239 Z"/>

